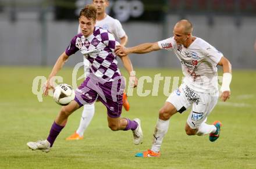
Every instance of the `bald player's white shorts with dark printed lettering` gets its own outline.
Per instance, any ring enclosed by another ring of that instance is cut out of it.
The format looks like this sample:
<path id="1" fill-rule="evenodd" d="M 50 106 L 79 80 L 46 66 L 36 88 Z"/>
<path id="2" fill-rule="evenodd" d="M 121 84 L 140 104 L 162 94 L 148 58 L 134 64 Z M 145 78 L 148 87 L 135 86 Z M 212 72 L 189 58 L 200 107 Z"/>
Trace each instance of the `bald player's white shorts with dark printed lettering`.
<path id="1" fill-rule="evenodd" d="M 207 117 L 218 102 L 218 95 L 195 92 L 187 87 L 186 84 L 182 84 L 170 94 L 166 102 L 172 103 L 179 113 L 184 112 L 192 105 L 187 124 L 189 124 L 190 128 L 196 129 L 207 120 Z"/>

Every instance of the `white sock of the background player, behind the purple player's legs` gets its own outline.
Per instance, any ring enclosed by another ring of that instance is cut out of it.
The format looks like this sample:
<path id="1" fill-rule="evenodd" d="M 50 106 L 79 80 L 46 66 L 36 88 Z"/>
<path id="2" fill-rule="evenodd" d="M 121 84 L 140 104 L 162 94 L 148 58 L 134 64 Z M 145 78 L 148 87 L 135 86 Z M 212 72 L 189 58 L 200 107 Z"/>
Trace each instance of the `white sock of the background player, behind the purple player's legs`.
<path id="1" fill-rule="evenodd" d="M 91 123 L 91 120 L 93 119 L 95 112 L 95 104 L 91 105 L 84 105 L 84 110 L 81 116 L 79 128 L 77 129 L 76 133 L 80 136 L 84 135 L 84 131 L 88 127 L 88 125 Z"/>

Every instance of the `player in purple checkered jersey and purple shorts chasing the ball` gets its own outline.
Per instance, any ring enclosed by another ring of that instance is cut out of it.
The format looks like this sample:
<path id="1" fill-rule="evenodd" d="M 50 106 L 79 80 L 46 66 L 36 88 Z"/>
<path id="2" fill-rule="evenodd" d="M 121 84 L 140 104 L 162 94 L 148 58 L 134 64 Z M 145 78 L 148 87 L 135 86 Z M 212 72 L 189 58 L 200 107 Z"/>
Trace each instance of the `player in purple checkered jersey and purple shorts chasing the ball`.
<path id="1" fill-rule="evenodd" d="M 75 110 L 86 104 L 91 104 L 97 99 L 107 109 L 108 127 L 112 131 L 131 130 L 133 131 L 134 144 L 142 142 L 143 132 L 140 119 L 121 118 L 123 91 L 125 82 L 118 69 L 115 46 L 119 43 L 107 30 L 95 27 L 97 9 L 93 5 L 87 5 L 80 12 L 79 23 L 81 34 L 76 35 L 66 51 L 59 56 L 51 74 L 48 77 L 44 95 L 52 88 L 51 79 L 59 70 L 68 57 L 77 51 L 83 53 L 90 62 L 90 74 L 86 80 L 76 89 L 76 97 L 67 106 L 63 106 L 52 124 L 47 139 L 38 142 L 28 142 L 27 146 L 33 150 L 49 152 L 56 137 L 59 135 L 67 122 L 67 118 Z M 122 57 L 121 57 L 122 59 Z"/>

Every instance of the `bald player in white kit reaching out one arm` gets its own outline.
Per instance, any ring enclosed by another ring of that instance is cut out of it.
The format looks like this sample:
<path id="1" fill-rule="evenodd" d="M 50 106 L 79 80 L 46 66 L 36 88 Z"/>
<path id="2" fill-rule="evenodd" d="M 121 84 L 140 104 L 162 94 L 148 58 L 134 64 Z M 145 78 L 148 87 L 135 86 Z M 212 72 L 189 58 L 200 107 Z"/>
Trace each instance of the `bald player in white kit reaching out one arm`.
<path id="1" fill-rule="evenodd" d="M 168 131 L 169 120 L 177 112 L 183 113 L 192 106 L 187 118 L 187 135 L 206 135 L 214 142 L 219 138 L 221 122 L 206 124 L 207 116 L 218 102 L 217 65 L 223 68 L 221 99 L 225 102 L 230 96 L 231 64 L 214 46 L 203 39 L 194 37 L 193 26 L 188 20 L 180 20 L 173 28 L 173 37 L 155 43 L 140 44 L 131 48 L 117 46 L 115 52 L 119 56 L 129 53 L 148 53 L 159 49 L 171 50 L 180 60 L 185 76 L 182 85 L 172 92 L 163 107 L 159 110 L 159 118 L 155 127 L 152 148 L 136 157 L 159 157 L 163 137 Z"/>

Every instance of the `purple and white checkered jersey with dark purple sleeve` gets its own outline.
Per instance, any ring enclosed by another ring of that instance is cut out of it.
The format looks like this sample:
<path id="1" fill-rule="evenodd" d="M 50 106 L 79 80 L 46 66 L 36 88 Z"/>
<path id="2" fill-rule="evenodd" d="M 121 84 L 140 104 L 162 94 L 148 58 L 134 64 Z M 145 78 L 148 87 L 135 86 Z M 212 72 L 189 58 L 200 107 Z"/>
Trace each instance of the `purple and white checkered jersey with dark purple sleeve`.
<path id="1" fill-rule="evenodd" d="M 118 69 L 118 61 L 115 55 L 115 46 L 119 45 L 115 37 L 100 27 L 95 27 L 93 34 L 84 37 L 76 35 L 66 49 L 66 55 L 70 56 L 80 52 L 90 62 L 90 73 L 106 81 L 113 81 L 121 75 Z"/>

